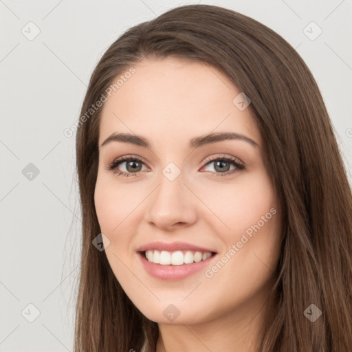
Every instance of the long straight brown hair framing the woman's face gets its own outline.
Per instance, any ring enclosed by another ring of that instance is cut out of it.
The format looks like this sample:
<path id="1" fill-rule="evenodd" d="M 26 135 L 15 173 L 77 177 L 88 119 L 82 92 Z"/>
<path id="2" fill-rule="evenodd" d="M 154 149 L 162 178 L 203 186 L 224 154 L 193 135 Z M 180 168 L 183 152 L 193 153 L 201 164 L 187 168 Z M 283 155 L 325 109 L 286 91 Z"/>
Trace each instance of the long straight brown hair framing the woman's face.
<path id="1" fill-rule="evenodd" d="M 99 122 L 87 111 L 109 85 L 144 58 L 174 56 L 223 72 L 250 97 L 265 163 L 283 211 L 275 302 L 260 351 L 347 352 L 352 348 L 352 195 L 320 90 L 302 58 L 265 25 L 213 5 L 184 5 L 135 25 L 91 76 L 76 135 L 83 220 L 75 352 L 155 351 L 158 326 L 115 278 L 94 207 Z M 88 117 L 87 117 L 88 116 Z M 322 315 L 304 314 L 314 304 Z"/>

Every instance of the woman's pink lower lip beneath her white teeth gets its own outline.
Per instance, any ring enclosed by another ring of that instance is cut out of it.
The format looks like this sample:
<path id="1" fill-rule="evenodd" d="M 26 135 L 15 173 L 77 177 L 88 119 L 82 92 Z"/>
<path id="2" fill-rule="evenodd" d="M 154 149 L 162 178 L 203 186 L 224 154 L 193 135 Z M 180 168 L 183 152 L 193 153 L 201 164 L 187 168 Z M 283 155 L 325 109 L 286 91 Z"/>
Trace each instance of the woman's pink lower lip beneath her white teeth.
<path id="1" fill-rule="evenodd" d="M 210 261 L 214 259 L 217 254 L 213 254 L 205 261 L 199 261 L 198 263 L 190 263 L 183 265 L 161 265 L 151 263 L 146 259 L 144 253 L 139 252 L 138 257 L 144 266 L 144 269 L 148 274 L 155 278 L 160 278 L 162 280 L 180 280 L 181 278 L 186 278 L 195 272 L 199 272 L 202 269 L 208 267 Z"/>

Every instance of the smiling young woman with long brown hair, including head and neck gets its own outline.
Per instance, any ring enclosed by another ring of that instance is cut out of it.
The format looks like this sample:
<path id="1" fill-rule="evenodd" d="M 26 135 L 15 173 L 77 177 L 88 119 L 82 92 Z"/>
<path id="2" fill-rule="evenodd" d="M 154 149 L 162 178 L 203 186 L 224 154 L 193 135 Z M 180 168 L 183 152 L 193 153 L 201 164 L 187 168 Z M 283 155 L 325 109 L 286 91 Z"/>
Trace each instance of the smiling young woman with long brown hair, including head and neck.
<path id="1" fill-rule="evenodd" d="M 109 47 L 81 116 L 75 351 L 351 351 L 351 188 L 281 36 L 175 8 Z"/>

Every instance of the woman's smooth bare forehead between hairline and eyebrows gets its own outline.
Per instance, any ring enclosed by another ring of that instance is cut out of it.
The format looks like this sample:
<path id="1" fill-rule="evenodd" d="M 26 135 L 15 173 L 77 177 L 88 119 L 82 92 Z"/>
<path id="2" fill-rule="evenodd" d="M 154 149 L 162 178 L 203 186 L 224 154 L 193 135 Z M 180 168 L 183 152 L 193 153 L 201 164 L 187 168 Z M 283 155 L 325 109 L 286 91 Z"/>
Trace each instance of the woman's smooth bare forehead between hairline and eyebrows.
<path id="1" fill-rule="evenodd" d="M 100 143 L 115 132 L 151 133 L 171 142 L 218 130 L 260 142 L 250 109 L 233 102 L 241 91 L 214 67 L 179 58 L 146 59 L 133 67 L 135 73 L 107 96 Z"/>

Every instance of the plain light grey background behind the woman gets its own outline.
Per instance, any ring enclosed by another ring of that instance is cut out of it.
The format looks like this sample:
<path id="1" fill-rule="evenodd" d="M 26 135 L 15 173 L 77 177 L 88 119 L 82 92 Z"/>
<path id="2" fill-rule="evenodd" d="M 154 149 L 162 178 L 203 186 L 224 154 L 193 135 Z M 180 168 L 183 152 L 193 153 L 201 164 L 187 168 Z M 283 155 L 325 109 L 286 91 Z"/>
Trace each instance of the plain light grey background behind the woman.
<path id="1" fill-rule="evenodd" d="M 325 99 L 351 183 L 351 0 L 0 1 L 1 352 L 72 351 L 80 212 L 75 135 L 63 131 L 79 117 L 107 47 L 132 25 L 186 3 L 246 14 L 297 48 Z M 34 34 L 30 21 L 40 30 L 33 40 L 21 32 Z M 322 29 L 315 40 L 311 21 Z M 32 180 L 23 175 L 30 163 L 39 169 Z M 33 322 L 30 303 L 40 311 Z"/>

